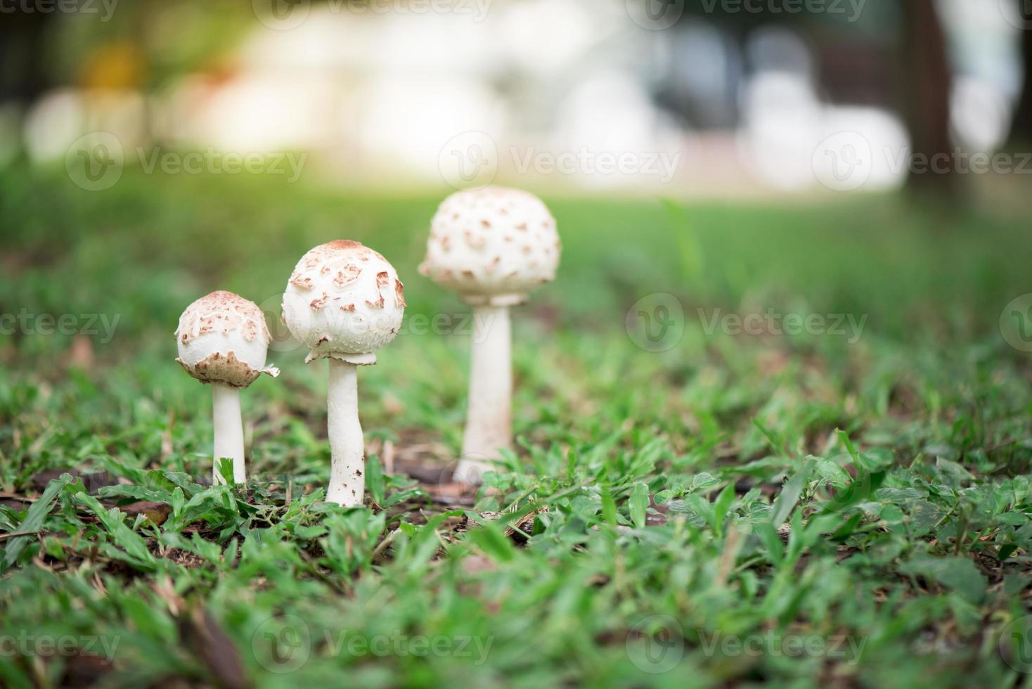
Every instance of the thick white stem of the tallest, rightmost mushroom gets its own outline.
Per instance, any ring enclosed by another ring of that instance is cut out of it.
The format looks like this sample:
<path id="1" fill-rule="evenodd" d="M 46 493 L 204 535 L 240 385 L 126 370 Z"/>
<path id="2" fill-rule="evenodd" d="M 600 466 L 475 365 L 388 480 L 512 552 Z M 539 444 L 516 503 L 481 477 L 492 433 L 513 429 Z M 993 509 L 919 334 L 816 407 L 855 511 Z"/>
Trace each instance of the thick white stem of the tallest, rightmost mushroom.
<path id="1" fill-rule="evenodd" d="M 488 459 L 512 442 L 512 359 L 509 306 L 478 305 L 473 310 L 473 361 L 470 408 L 462 438 L 462 457 L 455 481 L 480 484 L 485 471 L 497 467 Z"/>

